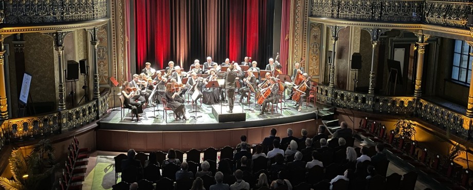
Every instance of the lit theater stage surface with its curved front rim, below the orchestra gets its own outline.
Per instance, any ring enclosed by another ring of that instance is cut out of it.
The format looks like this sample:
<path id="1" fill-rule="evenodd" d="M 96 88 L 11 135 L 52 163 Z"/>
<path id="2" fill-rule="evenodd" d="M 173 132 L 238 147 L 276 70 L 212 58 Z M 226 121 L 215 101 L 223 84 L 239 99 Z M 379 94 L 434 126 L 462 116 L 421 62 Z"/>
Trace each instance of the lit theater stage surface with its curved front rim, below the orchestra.
<path id="1" fill-rule="evenodd" d="M 246 100 L 246 99 L 245 99 Z M 311 102 L 305 107 L 303 103 L 302 110 L 297 111 L 297 107 L 294 106 L 295 102 L 292 100 L 285 101 L 282 103 L 282 113 L 280 110 L 281 104 L 276 104 L 273 110 L 265 112 L 265 115 L 259 115 L 261 106 L 255 106 L 254 99 L 250 101 L 250 104 L 245 101 L 244 104 L 235 105 L 233 114 L 240 116 L 242 113 L 246 115 L 246 121 L 240 122 L 226 122 L 219 123 L 217 118 L 212 114 L 212 105 L 199 104 L 197 106 L 198 112 L 190 112 L 193 107 L 190 103 L 185 103 L 186 113 L 189 120 L 174 120 L 173 112 L 167 112 L 167 122 L 163 119 L 162 104 L 157 107 L 148 107 L 144 109 L 141 114 L 141 121 L 137 122 L 131 120 L 131 112 L 129 109 L 123 109 L 125 116 L 123 119 L 120 116 L 120 110 L 108 112 L 103 119 L 99 122 L 100 129 L 105 130 L 131 130 L 131 131 L 189 131 L 189 130 L 217 130 L 217 129 L 233 129 L 242 127 L 255 127 L 255 126 L 269 126 L 286 123 L 294 123 L 299 121 L 317 119 L 317 108 L 320 111 L 320 115 L 326 114 L 326 112 L 333 112 L 328 106 L 322 104 L 316 104 Z M 271 104 L 269 104 L 271 107 Z M 220 104 L 214 105 L 215 108 L 220 108 Z M 214 108 L 214 110 L 215 110 Z M 117 107 L 120 109 L 120 107 Z M 222 104 L 222 112 L 226 113 L 227 105 Z M 328 110 L 330 109 L 330 110 Z M 215 111 L 214 111 L 215 112 Z M 220 112 L 217 111 L 217 112 Z M 197 117 L 195 117 L 197 116 Z M 232 116 L 230 116 L 232 117 Z M 228 120 L 225 120 L 228 121 Z"/>

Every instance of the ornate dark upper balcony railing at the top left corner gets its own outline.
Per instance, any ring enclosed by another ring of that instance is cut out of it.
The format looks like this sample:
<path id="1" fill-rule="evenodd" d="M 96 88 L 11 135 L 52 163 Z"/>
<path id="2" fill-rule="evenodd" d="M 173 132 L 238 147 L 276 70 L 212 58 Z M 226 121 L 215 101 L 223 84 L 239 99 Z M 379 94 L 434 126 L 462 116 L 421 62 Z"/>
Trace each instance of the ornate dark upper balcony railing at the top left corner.
<path id="1" fill-rule="evenodd" d="M 0 0 L 3 24 L 52 24 L 107 17 L 107 0 Z"/>

